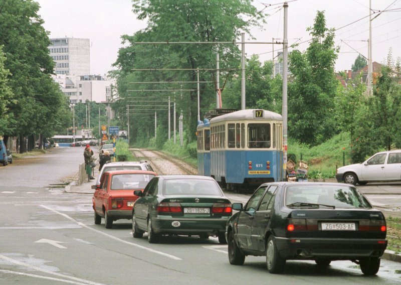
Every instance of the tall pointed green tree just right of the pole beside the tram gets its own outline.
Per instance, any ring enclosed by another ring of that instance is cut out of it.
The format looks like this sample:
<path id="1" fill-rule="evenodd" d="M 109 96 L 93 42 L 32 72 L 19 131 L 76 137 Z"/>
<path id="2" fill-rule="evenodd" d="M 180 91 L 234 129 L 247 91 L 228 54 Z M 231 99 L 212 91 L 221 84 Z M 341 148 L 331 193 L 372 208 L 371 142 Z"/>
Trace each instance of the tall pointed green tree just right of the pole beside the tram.
<path id="1" fill-rule="evenodd" d="M 312 40 L 306 52 L 295 50 L 289 55 L 288 132 L 302 143 L 318 145 L 335 133 L 338 50 L 334 30 L 326 28 L 323 12 L 317 12 L 313 27 L 307 30 Z"/>

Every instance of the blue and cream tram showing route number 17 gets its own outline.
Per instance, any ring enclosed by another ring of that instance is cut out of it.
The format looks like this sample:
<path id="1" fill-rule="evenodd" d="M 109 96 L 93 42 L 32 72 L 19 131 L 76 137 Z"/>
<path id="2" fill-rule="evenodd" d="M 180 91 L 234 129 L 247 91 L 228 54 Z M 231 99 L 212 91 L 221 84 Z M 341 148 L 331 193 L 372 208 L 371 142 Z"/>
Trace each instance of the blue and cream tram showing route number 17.
<path id="1" fill-rule="evenodd" d="M 205 160 L 208 152 L 198 143 L 198 174 L 212 176 L 223 188 L 237 192 L 282 181 L 282 125 L 280 114 L 259 109 L 239 110 L 199 124 L 198 131 L 210 128 L 210 163 Z"/>

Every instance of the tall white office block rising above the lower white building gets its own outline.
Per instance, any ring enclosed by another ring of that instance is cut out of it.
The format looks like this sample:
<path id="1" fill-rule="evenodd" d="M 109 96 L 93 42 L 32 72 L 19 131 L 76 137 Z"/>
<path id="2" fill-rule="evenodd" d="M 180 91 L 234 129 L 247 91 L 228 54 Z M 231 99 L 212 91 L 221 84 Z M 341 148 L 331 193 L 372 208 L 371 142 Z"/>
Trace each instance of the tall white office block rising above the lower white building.
<path id="1" fill-rule="evenodd" d="M 66 75 L 90 74 L 89 39 L 50 39 L 50 56 L 55 62 L 55 73 Z"/>

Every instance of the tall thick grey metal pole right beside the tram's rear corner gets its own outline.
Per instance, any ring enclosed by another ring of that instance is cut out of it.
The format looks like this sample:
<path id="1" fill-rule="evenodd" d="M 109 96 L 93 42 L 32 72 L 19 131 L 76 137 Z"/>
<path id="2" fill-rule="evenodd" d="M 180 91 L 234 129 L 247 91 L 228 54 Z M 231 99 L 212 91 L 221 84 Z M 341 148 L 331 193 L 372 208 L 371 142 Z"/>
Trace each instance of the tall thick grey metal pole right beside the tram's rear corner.
<path id="1" fill-rule="evenodd" d="M 284 39 L 283 39 L 283 168 L 287 165 L 287 80 L 288 80 L 288 39 L 287 39 L 287 18 L 288 4 L 284 2 Z"/>

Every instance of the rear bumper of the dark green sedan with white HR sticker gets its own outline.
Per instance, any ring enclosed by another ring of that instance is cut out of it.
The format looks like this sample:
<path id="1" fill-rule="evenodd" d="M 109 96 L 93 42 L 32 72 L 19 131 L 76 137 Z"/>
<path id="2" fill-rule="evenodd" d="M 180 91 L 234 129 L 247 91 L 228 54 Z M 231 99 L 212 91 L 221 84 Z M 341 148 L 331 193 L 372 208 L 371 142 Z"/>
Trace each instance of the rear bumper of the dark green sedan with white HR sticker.
<path id="1" fill-rule="evenodd" d="M 152 218 L 152 227 L 155 233 L 182 235 L 207 233 L 214 235 L 225 233 L 229 218 L 172 218 L 158 216 Z"/>

